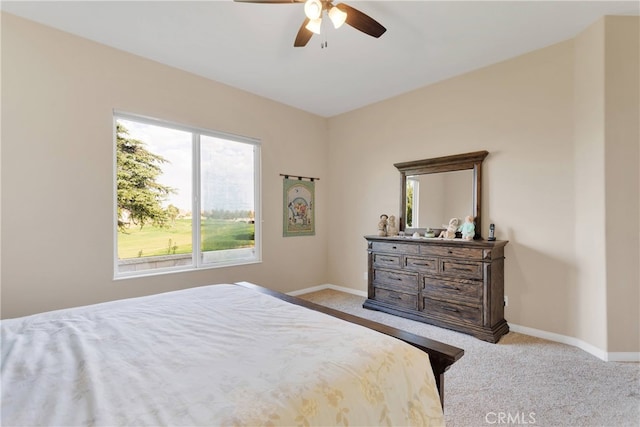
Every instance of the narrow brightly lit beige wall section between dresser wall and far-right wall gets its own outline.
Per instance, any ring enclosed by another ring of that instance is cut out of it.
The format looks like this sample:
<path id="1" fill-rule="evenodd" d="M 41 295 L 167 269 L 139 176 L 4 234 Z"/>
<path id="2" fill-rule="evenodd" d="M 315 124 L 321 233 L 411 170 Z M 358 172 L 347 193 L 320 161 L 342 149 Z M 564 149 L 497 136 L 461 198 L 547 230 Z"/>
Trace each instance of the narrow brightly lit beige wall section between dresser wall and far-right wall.
<path id="1" fill-rule="evenodd" d="M 606 348 L 603 19 L 575 38 L 574 57 L 575 334 Z"/>

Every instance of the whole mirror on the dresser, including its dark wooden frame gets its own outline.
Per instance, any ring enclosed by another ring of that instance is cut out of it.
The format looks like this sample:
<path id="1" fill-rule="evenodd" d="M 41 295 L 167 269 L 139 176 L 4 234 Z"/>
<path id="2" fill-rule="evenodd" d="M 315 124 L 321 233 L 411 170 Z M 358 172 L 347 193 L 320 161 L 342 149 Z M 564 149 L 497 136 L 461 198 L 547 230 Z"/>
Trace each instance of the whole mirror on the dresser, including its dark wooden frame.
<path id="1" fill-rule="evenodd" d="M 475 218 L 475 239 L 482 222 L 482 161 L 488 151 L 396 163 L 400 172 L 400 231 L 430 228 L 438 233 L 450 218 Z"/>

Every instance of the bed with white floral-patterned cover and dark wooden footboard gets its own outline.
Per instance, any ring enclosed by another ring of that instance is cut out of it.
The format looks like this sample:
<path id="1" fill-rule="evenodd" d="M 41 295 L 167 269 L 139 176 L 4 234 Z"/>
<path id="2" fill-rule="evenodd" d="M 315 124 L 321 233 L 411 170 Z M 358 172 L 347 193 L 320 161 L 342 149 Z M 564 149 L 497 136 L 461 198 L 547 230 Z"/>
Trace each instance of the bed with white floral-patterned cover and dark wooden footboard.
<path id="1" fill-rule="evenodd" d="M 443 425 L 463 354 L 246 282 L 1 326 L 3 426 Z"/>

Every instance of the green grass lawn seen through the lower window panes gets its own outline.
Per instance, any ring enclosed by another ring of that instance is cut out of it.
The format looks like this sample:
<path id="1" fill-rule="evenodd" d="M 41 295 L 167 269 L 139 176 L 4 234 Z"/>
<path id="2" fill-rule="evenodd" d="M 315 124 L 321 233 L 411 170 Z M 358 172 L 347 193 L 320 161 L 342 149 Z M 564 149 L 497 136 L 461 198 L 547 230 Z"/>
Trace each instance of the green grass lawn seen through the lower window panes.
<path id="1" fill-rule="evenodd" d="M 202 221 L 203 251 L 236 249 L 254 244 L 254 224 L 229 220 Z M 171 228 L 144 226 L 118 232 L 118 258 L 138 258 L 192 252 L 191 220 L 179 219 Z"/>

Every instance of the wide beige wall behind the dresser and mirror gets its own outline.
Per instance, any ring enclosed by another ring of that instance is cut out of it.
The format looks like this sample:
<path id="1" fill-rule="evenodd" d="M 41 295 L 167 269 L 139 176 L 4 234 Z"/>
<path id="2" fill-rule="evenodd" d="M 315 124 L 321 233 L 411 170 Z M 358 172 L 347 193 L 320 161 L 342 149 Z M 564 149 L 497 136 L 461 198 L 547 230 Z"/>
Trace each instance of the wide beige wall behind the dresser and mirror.
<path id="1" fill-rule="evenodd" d="M 362 236 L 378 212 L 397 215 L 393 163 L 487 150 L 482 233 L 495 223 L 511 242 L 507 319 L 573 330 L 572 52 L 560 43 L 330 119 L 332 187 L 343 186 L 330 205 L 361 212 L 329 236 L 331 282 L 365 289 Z"/>

